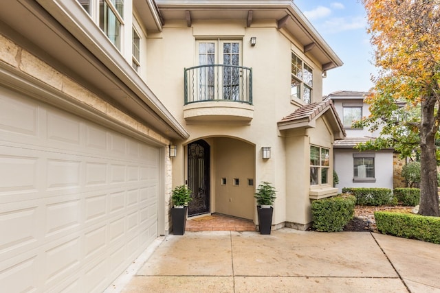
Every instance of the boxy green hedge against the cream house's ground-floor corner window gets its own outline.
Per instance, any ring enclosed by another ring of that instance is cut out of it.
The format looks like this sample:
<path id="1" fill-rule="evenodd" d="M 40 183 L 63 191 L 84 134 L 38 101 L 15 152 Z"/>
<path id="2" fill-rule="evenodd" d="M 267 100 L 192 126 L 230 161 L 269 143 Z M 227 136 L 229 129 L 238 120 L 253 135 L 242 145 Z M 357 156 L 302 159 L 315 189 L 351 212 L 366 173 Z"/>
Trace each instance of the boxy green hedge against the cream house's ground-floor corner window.
<path id="1" fill-rule="evenodd" d="M 356 198 L 351 195 L 339 195 L 311 202 L 312 225 L 317 231 L 342 231 L 355 211 Z"/>

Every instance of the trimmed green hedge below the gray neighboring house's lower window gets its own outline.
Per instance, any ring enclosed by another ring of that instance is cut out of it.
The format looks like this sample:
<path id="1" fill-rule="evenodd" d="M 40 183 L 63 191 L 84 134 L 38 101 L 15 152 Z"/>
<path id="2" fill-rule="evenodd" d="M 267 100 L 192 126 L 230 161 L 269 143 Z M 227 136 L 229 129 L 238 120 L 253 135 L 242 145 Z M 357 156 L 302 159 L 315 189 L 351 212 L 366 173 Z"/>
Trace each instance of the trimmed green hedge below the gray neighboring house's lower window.
<path id="1" fill-rule="evenodd" d="M 353 194 L 356 204 L 380 206 L 384 204 L 395 204 L 393 191 L 388 188 L 353 188 L 344 187 L 343 194 Z"/>

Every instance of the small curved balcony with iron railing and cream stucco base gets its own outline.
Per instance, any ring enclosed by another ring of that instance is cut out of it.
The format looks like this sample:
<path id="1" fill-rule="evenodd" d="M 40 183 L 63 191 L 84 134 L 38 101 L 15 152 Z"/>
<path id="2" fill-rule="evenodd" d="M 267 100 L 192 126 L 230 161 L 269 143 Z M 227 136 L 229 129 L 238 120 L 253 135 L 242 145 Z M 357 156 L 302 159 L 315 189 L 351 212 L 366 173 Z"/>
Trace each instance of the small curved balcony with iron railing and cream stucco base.
<path id="1" fill-rule="evenodd" d="M 252 69 L 235 65 L 200 65 L 185 69 L 184 118 L 189 123 L 249 124 Z"/>

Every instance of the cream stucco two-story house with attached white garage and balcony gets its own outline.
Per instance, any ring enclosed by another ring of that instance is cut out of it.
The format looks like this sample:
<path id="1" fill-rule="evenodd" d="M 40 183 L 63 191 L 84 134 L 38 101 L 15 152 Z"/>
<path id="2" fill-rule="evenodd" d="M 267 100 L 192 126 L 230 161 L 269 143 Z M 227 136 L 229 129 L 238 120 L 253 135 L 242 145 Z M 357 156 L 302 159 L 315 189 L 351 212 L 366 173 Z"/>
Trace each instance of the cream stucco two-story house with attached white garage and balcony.
<path id="1" fill-rule="evenodd" d="M 0 27 L 1 292 L 104 290 L 177 185 L 258 224 L 269 181 L 274 228 L 303 230 L 338 193 L 342 62 L 293 1 L 21 0 Z"/>

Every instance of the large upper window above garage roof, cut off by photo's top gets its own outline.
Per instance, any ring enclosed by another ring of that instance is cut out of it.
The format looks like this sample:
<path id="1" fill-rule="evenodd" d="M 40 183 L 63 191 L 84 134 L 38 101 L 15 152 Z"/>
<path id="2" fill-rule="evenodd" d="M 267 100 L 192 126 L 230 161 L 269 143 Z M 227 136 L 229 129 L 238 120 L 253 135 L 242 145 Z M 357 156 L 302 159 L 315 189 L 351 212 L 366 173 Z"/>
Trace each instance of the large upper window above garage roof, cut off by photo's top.
<path id="1" fill-rule="evenodd" d="M 99 5 L 98 24 L 102 32 L 107 35 L 111 43 L 119 50 L 122 44 L 122 25 L 124 23 L 124 1 L 123 0 L 78 0 L 81 6 L 87 11 L 94 21 L 94 7 Z"/>

